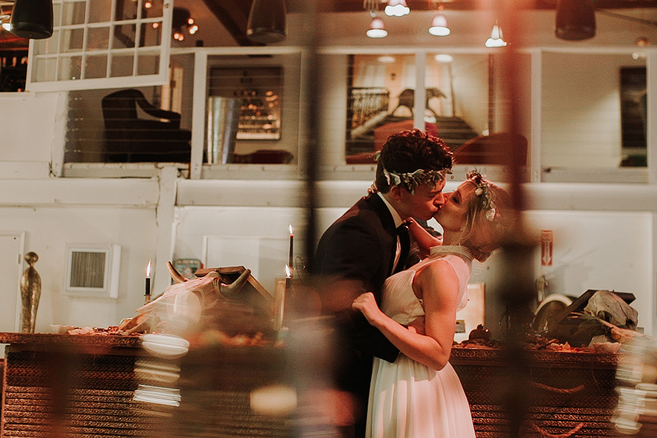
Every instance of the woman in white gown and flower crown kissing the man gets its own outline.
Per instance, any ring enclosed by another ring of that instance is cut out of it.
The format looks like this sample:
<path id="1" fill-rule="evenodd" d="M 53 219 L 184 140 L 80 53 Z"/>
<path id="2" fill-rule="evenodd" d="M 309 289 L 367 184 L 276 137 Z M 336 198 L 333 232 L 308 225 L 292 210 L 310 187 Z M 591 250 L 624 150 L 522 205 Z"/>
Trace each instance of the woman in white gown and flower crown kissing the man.
<path id="1" fill-rule="evenodd" d="M 508 208 L 504 190 L 469 172 L 434 216 L 443 228 L 442 245 L 411 223 L 417 243 L 430 247 L 429 257 L 387 279 L 381 309 L 370 292 L 354 300 L 352 307 L 402 353 L 394 363 L 374 358 L 366 437 L 475 437 L 469 404 L 448 360 L 472 260 L 487 259 L 508 235 Z M 422 315 L 424 334 L 404 326 Z"/>

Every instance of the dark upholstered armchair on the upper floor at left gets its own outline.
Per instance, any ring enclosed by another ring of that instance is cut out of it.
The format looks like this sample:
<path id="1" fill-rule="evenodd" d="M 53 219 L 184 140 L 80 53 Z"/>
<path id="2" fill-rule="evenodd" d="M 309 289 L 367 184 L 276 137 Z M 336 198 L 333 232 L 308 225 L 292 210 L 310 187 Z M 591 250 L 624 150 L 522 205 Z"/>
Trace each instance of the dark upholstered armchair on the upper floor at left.
<path id="1" fill-rule="evenodd" d="M 137 105 L 153 118 L 139 118 Z M 180 129 L 180 114 L 151 105 L 134 89 L 107 94 L 101 106 L 106 162 L 190 162 L 192 132 Z"/>

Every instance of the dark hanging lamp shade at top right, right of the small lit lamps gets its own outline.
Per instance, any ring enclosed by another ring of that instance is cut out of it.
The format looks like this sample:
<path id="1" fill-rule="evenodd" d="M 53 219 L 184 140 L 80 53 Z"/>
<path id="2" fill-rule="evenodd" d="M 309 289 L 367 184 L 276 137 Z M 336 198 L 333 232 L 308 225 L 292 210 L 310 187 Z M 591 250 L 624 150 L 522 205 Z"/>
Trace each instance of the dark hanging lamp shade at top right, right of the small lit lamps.
<path id="1" fill-rule="evenodd" d="M 591 0 L 558 0 L 556 38 L 587 40 L 595 36 L 595 5 Z"/>

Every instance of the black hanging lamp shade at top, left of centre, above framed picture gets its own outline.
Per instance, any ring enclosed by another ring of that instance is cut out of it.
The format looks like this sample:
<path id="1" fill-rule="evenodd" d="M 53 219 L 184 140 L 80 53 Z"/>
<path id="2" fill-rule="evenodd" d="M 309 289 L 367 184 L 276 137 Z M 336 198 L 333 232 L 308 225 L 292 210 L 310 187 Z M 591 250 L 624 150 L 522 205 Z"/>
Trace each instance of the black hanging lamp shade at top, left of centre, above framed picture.
<path id="1" fill-rule="evenodd" d="M 285 0 L 253 0 L 246 23 L 246 36 L 264 44 L 285 40 L 286 14 Z"/>

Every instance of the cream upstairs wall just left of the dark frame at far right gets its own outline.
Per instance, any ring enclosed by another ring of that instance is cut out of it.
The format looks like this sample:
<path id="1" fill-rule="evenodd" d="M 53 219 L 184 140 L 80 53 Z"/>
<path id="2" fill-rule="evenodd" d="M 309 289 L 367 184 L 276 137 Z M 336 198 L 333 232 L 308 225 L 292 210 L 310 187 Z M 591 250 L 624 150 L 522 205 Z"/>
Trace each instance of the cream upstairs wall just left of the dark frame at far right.
<path id="1" fill-rule="evenodd" d="M 543 167 L 619 165 L 619 71 L 637 65 L 629 54 L 543 53 Z"/>

